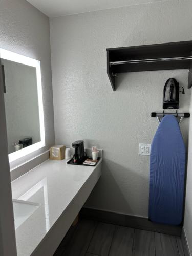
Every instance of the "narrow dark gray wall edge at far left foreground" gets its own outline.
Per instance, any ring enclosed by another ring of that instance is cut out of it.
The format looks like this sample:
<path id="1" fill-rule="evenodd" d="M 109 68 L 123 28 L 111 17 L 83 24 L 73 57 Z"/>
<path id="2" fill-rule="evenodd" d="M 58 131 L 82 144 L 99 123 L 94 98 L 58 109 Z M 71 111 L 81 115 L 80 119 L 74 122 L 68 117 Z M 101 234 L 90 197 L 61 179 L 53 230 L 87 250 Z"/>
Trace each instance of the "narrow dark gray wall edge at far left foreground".
<path id="1" fill-rule="evenodd" d="M 2 78 L 2 70 L 0 70 L 0 255 L 16 256 L 17 253 L 11 194 L 11 180 L 9 172 L 5 104 Z"/>

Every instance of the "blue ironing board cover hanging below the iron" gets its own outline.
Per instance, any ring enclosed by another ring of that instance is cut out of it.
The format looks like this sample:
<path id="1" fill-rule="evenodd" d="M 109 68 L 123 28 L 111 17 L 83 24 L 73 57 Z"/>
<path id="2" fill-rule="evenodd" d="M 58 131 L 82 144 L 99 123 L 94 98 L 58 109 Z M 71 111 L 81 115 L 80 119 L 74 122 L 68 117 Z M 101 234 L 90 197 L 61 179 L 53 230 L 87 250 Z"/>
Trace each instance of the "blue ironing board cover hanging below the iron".
<path id="1" fill-rule="evenodd" d="M 183 218 L 185 145 L 177 118 L 164 116 L 151 145 L 149 219 L 179 225 Z"/>

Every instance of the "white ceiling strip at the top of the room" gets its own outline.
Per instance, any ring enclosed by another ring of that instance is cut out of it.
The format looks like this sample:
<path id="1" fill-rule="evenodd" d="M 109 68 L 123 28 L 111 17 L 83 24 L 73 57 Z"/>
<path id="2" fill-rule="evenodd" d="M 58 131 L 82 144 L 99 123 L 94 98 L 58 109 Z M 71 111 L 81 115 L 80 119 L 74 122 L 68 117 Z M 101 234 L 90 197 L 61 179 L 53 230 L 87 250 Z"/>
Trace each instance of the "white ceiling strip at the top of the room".
<path id="1" fill-rule="evenodd" d="M 163 0 L 27 0 L 49 17 L 139 5 Z"/>

